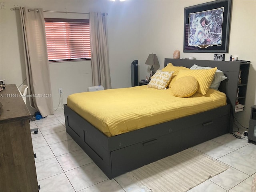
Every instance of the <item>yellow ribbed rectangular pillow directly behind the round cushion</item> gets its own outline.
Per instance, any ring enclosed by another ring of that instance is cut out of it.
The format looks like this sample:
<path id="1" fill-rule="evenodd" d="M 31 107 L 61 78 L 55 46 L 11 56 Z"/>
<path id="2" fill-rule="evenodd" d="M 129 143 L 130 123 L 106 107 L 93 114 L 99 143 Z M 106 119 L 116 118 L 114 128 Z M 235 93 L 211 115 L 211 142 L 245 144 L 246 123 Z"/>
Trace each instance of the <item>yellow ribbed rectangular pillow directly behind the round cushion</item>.
<path id="1" fill-rule="evenodd" d="M 198 81 L 197 92 L 205 95 L 212 83 L 216 70 L 216 67 L 212 69 L 180 70 L 176 77 L 176 80 L 185 76 L 192 76 L 196 78 L 196 80 Z"/>

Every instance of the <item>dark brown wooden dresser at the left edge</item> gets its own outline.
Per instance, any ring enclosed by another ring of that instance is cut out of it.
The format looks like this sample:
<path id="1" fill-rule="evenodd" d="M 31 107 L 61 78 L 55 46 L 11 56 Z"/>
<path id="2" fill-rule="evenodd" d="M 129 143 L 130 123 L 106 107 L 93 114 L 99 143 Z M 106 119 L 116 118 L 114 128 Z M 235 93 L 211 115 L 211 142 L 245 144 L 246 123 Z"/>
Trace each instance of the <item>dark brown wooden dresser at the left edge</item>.
<path id="1" fill-rule="evenodd" d="M 1 102 L 1 192 L 38 192 L 30 132 L 30 112 L 15 84 L 6 85 Z"/>

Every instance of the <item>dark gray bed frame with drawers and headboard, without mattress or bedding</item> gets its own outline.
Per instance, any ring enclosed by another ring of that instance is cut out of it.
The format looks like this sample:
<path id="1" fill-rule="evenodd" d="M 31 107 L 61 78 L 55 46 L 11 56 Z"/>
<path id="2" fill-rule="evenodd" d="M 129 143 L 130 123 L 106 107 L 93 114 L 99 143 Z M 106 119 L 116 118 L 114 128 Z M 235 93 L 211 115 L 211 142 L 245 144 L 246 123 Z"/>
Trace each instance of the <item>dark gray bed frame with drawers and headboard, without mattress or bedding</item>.
<path id="1" fill-rule="evenodd" d="M 227 95 L 226 106 L 180 119 L 156 124 L 132 132 L 107 137 L 84 118 L 64 105 L 66 131 L 113 178 L 166 156 L 170 156 L 226 133 L 232 133 L 230 111 L 236 100 L 239 63 L 206 60 L 165 59 L 174 66 L 217 67 L 228 79 L 220 85 Z"/>

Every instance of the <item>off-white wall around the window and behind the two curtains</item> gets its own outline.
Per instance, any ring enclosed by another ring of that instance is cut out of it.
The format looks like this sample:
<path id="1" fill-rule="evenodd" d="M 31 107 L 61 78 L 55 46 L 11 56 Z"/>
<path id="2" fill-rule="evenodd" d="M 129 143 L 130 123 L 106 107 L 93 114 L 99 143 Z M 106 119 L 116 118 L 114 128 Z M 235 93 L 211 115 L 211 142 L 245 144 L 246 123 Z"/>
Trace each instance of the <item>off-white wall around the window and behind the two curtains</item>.
<path id="1" fill-rule="evenodd" d="M 138 58 L 138 25 L 134 22 L 138 14 L 131 14 L 134 7 L 131 2 L 112 1 L 1 1 L 6 9 L 1 10 L 1 76 L 8 84 L 20 86 L 26 79 L 24 49 L 19 10 L 13 7 L 43 8 L 68 12 L 107 12 L 109 36 L 109 61 L 112 88 L 131 86 L 130 64 Z M 123 6 L 125 4 L 125 6 Z M 121 5 L 121 6 L 120 6 Z M 138 13 L 138 11 L 136 11 Z M 44 12 L 49 18 L 89 18 L 88 14 L 65 14 Z M 138 23 L 138 22 L 137 22 Z M 125 24 L 125 25 L 124 25 Z M 131 30 L 132 29 L 132 30 Z M 87 91 L 92 86 L 92 68 L 90 61 L 50 63 L 50 78 L 54 109 L 59 104 L 58 88 L 63 89 L 63 103 L 68 95 Z M 24 82 L 26 84 L 26 81 Z M 32 110 L 29 108 L 30 111 Z M 33 112 L 31 112 L 33 113 Z"/>

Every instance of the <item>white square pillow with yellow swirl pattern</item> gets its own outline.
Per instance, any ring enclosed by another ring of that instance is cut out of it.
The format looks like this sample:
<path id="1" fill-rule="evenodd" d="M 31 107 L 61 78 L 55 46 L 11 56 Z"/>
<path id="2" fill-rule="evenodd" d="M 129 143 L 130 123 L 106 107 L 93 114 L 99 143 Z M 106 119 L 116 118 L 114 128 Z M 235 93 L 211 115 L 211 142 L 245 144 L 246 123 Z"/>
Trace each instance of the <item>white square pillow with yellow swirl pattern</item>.
<path id="1" fill-rule="evenodd" d="M 155 89 L 165 89 L 172 78 L 173 71 L 161 71 L 157 70 L 152 76 L 148 87 Z"/>

